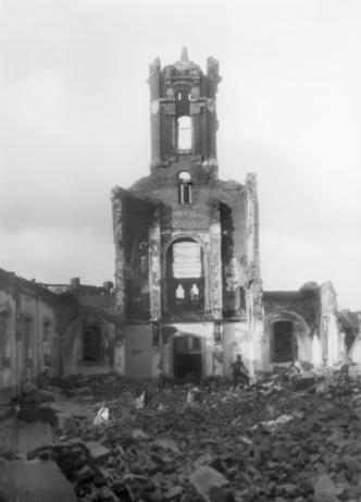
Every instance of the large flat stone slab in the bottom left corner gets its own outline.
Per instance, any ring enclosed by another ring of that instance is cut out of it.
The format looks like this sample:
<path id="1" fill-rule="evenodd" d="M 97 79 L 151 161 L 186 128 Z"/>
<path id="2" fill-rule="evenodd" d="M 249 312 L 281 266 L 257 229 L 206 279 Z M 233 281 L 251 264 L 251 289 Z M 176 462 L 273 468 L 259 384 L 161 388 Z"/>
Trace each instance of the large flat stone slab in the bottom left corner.
<path id="1" fill-rule="evenodd" d="M 1 466 L 0 493 L 8 501 L 77 502 L 70 481 L 53 462 L 16 462 Z"/>

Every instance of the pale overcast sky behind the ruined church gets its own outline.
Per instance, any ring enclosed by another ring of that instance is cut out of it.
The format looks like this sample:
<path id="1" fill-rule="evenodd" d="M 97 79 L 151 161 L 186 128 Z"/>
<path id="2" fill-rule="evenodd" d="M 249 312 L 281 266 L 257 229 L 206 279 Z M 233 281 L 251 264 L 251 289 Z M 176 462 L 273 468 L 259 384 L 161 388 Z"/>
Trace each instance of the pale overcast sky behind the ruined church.
<path id="1" fill-rule="evenodd" d="M 264 290 L 361 308 L 360 0 L 0 0 L 0 268 L 114 278 L 110 191 L 149 174 L 148 68 L 220 61 L 220 177 L 257 172 Z"/>

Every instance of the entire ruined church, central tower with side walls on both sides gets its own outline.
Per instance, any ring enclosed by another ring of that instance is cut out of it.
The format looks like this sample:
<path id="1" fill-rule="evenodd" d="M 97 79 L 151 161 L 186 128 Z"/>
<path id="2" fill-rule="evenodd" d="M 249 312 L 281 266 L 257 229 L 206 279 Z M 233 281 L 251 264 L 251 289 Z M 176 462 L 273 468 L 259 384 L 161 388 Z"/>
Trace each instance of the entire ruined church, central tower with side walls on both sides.
<path id="1" fill-rule="evenodd" d="M 150 174 L 112 191 L 115 287 L 0 269 L 0 402 L 42 371 L 250 376 L 300 359 L 361 363 L 360 316 L 331 282 L 263 291 L 254 173 L 219 177 L 219 62 L 150 65 Z M 145 168 L 145 174 L 146 174 Z M 221 171 L 222 175 L 222 171 Z"/>

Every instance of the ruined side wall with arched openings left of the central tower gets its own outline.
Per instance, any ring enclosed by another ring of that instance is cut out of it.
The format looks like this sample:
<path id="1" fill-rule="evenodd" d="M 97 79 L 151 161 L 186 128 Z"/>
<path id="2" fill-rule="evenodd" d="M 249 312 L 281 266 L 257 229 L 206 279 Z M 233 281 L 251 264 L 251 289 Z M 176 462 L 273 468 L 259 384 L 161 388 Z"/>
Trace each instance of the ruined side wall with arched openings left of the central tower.
<path id="1" fill-rule="evenodd" d="M 114 310 L 107 287 L 76 279 L 39 284 L 0 269 L 0 402 L 45 370 L 62 377 L 122 371 Z"/>

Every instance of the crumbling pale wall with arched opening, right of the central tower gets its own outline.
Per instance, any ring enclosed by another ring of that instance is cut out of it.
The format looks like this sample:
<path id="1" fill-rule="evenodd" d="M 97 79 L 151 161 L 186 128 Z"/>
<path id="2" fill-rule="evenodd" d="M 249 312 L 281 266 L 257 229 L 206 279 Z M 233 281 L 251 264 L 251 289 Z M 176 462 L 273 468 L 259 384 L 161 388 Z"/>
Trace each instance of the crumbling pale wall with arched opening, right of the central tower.
<path id="1" fill-rule="evenodd" d="M 264 292 L 264 365 L 296 359 L 331 366 L 346 356 L 336 292 L 331 282 L 299 291 Z"/>

